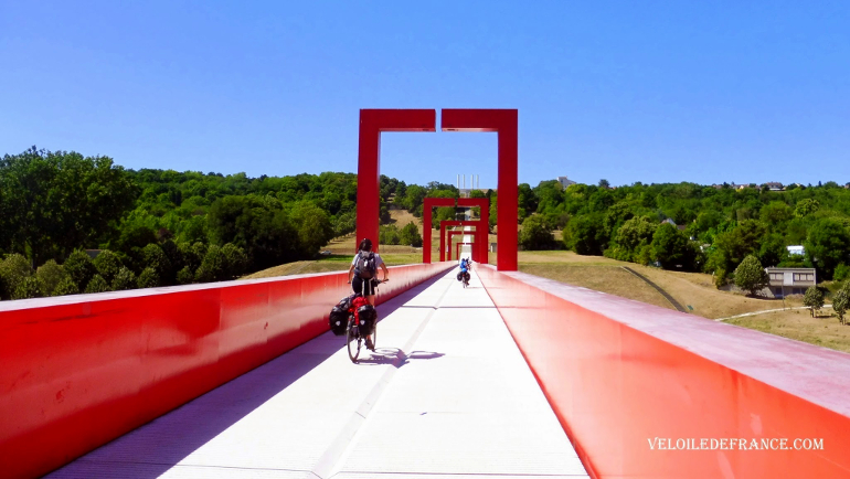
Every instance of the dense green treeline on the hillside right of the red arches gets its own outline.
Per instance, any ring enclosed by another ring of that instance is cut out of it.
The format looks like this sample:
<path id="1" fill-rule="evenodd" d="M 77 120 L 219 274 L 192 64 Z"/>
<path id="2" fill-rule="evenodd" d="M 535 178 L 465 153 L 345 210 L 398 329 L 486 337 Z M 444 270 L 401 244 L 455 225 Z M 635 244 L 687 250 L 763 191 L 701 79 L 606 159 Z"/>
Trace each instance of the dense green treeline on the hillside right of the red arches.
<path id="1" fill-rule="evenodd" d="M 563 228 L 563 246 L 578 254 L 714 273 L 719 285 L 747 255 L 764 266 L 815 267 L 822 279 L 850 265 L 850 190 L 835 182 L 771 191 L 604 182 L 564 190 L 544 181 L 521 184 L 519 205 L 527 248 L 557 247 L 550 233 Z M 805 255 L 790 255 L 791 245 Z"/>

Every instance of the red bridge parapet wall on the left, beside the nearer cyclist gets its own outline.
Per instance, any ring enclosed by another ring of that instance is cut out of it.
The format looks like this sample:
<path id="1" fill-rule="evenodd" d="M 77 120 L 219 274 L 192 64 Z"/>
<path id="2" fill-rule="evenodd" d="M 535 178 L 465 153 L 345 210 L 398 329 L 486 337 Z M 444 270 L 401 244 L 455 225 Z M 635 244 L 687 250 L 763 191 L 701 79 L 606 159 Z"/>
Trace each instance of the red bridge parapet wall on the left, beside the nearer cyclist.
<path id="1" fill-rule="evenodd" d="M 391 267 L 383 302 L 450 268 Z M 329 273 L 0 302 L 0 477 L 40 477 L 326 332 Z"/>

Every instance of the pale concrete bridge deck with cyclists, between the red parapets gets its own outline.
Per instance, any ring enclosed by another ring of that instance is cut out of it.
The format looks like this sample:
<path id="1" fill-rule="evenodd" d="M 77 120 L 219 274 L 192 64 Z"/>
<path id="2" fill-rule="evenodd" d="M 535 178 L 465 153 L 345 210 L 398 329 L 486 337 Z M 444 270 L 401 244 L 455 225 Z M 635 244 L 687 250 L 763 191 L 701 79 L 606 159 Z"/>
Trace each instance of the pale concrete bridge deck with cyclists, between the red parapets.
<path id="1" fill-rule="evenodd" d="M 475 273 L 379 307 L 375 353 L 330 332 L 50 478 L 586 478 Z"/>

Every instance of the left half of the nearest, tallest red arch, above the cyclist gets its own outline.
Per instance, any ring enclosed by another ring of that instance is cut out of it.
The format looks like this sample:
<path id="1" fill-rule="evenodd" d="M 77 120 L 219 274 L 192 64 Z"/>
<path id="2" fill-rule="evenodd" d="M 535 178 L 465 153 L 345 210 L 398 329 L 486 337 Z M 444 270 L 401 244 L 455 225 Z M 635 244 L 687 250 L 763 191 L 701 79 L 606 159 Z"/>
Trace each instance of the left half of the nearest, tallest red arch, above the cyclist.
<path id="1" fill-rule="evenodd" d="M 434 109 L 361 109 L 358 151 L 358 240 L 372 240 L 380 249 L 381 134 L 387 131 L 436 131 Z"/>

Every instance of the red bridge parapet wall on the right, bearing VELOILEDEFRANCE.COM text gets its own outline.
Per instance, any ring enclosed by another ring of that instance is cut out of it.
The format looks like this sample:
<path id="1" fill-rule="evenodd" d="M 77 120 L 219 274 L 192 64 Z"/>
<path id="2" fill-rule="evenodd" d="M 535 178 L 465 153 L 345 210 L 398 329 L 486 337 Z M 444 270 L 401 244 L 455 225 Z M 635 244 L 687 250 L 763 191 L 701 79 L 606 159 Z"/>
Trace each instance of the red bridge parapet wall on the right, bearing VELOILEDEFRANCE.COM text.
<path id="1" fill-rule="evenodd" d="M 591 477 L 850 477 L 850 355 L 522 273 L 476 272 Z M 703 438 L 716 444 L 700 449 Z M 739 438 L 786 438 L 788 449 L 741 450 L 729 440 Z M 822 448 L 794 449 L 794 439 Z"/>

